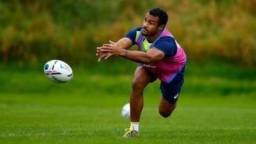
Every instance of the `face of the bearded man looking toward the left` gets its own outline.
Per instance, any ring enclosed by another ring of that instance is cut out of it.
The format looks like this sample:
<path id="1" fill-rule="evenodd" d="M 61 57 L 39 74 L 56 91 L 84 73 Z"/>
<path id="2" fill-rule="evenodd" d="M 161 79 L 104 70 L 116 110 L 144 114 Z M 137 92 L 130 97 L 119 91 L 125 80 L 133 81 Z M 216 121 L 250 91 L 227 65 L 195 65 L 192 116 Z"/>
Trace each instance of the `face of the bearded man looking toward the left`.
<path id="1" fill-rule="evenodd" d="M 147 13 L 143 22 L 142 35 L 154 36 L 158 33 L 158 21 L 159 17 L 154 17 L 153 15 L 150 15 L 150 13 Z"/>

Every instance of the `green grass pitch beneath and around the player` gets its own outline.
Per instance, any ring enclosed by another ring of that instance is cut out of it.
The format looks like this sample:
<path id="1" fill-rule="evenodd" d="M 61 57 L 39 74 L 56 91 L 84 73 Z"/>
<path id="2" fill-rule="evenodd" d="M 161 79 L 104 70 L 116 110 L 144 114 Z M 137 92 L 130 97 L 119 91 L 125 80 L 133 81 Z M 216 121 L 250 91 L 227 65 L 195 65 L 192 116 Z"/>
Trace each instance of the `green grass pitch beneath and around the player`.
<path id="1" fill-rule="evenodd" d="M 74 68 L 55 84 L 42 68 L 1 65 L 0 143 L 256 143 L 256 70 L 188 64 L 171 117 L 158 114 L 160 82 L 144 93 L 140 137 L 124 139 L 132 70 Z M 104 74 L 104 73 L 108 74 Z"/>

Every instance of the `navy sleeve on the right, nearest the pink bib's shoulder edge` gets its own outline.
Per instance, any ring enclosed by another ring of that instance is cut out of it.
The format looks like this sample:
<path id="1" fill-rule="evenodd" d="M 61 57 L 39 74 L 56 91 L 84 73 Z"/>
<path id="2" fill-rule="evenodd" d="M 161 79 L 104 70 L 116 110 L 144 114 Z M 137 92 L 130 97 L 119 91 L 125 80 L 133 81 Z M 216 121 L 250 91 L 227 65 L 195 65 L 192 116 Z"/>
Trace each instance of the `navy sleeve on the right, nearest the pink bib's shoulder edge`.
<path id="1" fill-rule="evenodd" d="M 177 53 L 177 45 L 173 37 L 163 36 L 154 44 L 155 48 L 164 52 L 165 57 L 173 57 Z"/>

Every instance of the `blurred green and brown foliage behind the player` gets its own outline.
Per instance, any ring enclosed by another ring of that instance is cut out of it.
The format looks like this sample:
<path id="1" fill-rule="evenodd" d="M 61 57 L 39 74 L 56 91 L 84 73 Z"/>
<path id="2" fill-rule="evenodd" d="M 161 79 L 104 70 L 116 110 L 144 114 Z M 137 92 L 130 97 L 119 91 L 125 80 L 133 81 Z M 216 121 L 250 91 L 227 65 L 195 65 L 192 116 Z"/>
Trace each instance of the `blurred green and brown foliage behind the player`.
<path id="1" fill-rule="evenodd" d="M 0 0 L 0 63 L 94 64 L 96 46 L 141 26 L 152 7 L 166 9 L 189 60 L 256 64 L 255 0 Z"/>

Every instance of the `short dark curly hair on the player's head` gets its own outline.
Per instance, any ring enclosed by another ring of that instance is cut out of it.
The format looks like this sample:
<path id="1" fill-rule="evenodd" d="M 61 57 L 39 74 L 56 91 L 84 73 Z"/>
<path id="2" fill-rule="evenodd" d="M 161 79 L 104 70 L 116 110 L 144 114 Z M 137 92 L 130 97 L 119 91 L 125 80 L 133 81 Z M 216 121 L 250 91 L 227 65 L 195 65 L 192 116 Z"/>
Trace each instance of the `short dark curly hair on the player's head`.
<path id="1" fill-rule="evenodd" d="M 166 27 L 166 23 L 168 21 L 168 14 L 166 13 L 166 11 L 164 11 L 164 9 L 161 8 L 153 8 L 149 11 L 150 15 L 153 15 L 154 17 L 159 17 L 159 22 L 158 22 L 158 26 L 160 25 L 164 25 L 164 27 Z"/>

